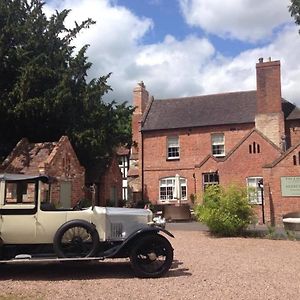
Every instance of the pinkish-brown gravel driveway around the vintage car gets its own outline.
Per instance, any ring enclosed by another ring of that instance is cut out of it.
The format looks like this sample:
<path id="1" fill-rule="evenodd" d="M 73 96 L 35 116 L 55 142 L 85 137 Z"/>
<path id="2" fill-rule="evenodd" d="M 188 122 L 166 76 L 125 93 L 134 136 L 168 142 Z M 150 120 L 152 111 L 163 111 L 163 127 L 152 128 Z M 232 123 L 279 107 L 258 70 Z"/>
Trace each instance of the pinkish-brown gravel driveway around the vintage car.
<path id="1" fill-rule="evenodd" d="M 134 278 L 128 260 L 0 265 L 0 299 L 299 299 L 299 241 L 172 232 L 164 278 Z"/>

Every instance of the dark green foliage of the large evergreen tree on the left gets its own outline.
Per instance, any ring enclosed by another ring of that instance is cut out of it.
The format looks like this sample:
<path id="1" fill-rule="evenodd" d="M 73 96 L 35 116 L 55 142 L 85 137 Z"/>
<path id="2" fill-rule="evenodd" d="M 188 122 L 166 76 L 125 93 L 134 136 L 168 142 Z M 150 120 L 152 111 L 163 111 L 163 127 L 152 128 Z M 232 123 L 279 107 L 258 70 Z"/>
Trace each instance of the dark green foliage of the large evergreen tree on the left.
<path id="1" fill-rule="evenodd" d="M 101 165 L 131 141 L 132 107 L 105 103 L 110 74 L 87 81 L 87 45 L 72 41 L 94 22 L 64 22 L 69 10 L 47 18 L 40 0 L 0 0 L 0 158 L 27 137 L 68 135 L 81 162 Z"/>

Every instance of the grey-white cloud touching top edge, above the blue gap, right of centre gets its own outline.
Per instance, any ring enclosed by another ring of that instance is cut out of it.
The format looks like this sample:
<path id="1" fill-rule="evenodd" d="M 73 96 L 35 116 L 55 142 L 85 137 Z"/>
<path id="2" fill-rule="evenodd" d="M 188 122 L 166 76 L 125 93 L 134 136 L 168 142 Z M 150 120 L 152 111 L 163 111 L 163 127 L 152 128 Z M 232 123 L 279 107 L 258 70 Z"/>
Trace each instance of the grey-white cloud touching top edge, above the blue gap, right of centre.
<path id="1" fill-rule="evenodd" d="M 179 0 L 189 25 L 223 38 L 255 42 L 291 22 L 289 0 Z"/>

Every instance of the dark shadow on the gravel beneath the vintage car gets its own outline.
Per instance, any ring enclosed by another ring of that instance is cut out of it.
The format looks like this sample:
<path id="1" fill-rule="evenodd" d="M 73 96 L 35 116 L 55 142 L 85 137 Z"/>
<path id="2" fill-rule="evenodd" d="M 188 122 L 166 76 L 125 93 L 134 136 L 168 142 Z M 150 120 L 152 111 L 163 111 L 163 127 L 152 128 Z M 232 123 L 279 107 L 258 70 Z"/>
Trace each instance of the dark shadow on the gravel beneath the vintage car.
<path id="1" fill-rule="evenodd" d="M 190 276 L 188 269 L 179 267 L 181 264 L 174 260 L 166 277 Z M 0 280 L 2 281 L 64 281 L 134 277 L 129 261 L 0 265 Z"/>

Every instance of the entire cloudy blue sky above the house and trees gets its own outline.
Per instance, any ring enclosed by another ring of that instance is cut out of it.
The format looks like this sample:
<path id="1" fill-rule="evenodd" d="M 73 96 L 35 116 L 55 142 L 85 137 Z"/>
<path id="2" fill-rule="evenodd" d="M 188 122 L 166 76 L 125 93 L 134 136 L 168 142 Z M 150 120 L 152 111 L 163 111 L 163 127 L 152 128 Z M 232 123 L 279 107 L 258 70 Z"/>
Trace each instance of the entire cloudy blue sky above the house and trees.
<path id="1" fill-rule="evenodd" d="M 89 79 L 112 73 L 105 100 L 132 103 L 143 81 L 155 99 L 256 89 L 258 58 L 281 61 L 282 96 L 300 106 L 300 35 L 289 0 L 48 0 L 48 16 L 71 9 L 65 25 L 96 24 Z"/>

